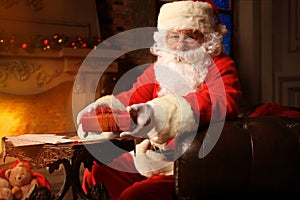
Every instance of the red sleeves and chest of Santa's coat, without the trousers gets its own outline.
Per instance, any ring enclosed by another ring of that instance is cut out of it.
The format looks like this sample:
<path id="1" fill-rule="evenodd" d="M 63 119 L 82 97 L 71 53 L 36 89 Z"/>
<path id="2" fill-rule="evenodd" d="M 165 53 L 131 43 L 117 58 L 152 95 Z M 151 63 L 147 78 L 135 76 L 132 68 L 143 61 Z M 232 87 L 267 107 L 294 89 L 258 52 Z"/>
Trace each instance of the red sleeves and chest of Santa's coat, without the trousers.
<path id="1" fill-rule="evenodd" d="M 213 62 L 214 65 L 208 68 L 208 74 L 201 90 L 183 97 L 191 106 L 195 118 L 200 119 L 200 126 L 208 125 L 212 112 L 216 110 L 218 115 L 214 120 L 222 120 L 223 117 L 232 119 L 238 115 L 241 87 L 235 63 L 226 54 L 213 57 Z M 122 92 L 115 97 L 124 106 L 130 106 L 157 98 L 159 90 L 160 86 L 156 81 L 154 64 L 152 64 L 137 78 L 137 82 L 133 84 L 131 90 Z M 222 93 L 225 94 L 225 97 Z"/>

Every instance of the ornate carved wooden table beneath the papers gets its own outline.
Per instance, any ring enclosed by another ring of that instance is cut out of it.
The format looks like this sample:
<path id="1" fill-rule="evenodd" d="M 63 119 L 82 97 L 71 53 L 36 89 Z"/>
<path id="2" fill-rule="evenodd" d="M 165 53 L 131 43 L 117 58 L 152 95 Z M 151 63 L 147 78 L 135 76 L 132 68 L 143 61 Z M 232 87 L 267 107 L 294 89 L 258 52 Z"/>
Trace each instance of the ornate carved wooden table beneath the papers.
<path id="1" fill-rule="evenodd" d="M 68 137 L 74 135 L 76 133 L 66 133 Z M 117 148 L 114 149 L 112 146 Z M 85 168 L 91 170 L 95 161 L 108 163 L 123 151 L 132 149 L 132 141 L 120 139 L 15 146 L 7 137 L 2 138 L 4 161 L 6 156 L 15 157 L 28 162 L 32 168 L 48 167 L 50 174 L 58 170 L 60 165 L 63 165 L 65 179 L 60 191 L 55 194 L 55 199 L 57 200 L 63 199 L 70 188 L 72 188 L 74 200 L 78 198 L 78 195 L 82 199 L 90 199 L 85 195 L 81 187 L 79 172 L 82 164 Z M 99 160 L 99 158 L 105 158 L 105 160 Z"/>

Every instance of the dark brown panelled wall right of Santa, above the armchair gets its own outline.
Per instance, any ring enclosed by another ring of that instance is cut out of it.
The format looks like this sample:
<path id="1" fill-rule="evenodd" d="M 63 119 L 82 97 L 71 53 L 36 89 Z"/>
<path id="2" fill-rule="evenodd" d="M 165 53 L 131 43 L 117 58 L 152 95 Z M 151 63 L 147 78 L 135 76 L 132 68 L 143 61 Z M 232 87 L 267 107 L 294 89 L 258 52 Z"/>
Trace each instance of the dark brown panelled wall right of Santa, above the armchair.
<path id="1" fill-rule="evenodd" d="M 300 1 L 237 0 L 236 61 L 244 104 L 300 107 Z"/>

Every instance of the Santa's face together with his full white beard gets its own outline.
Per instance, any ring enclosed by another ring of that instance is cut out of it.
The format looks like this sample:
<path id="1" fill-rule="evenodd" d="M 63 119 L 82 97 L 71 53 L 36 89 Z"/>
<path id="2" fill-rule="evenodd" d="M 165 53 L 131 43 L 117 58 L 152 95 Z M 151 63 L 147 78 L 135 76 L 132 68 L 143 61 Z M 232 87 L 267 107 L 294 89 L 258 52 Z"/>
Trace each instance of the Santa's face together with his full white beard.
<path id="1" fill-rule="evenodd" d="M 158 96 L 198 92 L 211 64 L 210 55 L 201 46 L 203 35 L 191 30 L 168 31 L 157 33 L 154 39 L 158 55 L 154 69 L 161 89 Z"/>

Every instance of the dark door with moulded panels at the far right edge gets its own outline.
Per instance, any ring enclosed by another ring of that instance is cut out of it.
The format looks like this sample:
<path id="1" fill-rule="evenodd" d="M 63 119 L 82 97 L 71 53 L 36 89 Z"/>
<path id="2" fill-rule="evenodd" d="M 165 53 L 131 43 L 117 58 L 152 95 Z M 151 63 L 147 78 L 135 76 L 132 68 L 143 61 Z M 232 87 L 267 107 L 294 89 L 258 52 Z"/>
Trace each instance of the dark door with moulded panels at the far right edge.
<path id="1" fill-rule="evenodd" d="M 273 1 L 272 11 L 273 98 L 300 107 L 300 1 Z"/>

